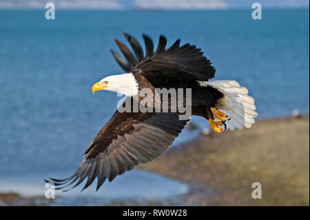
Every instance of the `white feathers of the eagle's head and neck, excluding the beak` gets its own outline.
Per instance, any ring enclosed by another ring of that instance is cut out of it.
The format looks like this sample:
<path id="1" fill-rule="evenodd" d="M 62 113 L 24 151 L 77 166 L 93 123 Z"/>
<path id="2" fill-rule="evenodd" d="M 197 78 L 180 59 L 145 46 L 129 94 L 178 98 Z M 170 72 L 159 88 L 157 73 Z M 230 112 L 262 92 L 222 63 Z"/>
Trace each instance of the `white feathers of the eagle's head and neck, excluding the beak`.
<path id="1" fill-rule="evenodd" d="M 106 90 L 125 94 L 127 97 L 133 97 L 138 94 L 138 81 L 136 81 L 136 78 L 132 72 L 112 75 L 103 80 L 109 81 Z"/>

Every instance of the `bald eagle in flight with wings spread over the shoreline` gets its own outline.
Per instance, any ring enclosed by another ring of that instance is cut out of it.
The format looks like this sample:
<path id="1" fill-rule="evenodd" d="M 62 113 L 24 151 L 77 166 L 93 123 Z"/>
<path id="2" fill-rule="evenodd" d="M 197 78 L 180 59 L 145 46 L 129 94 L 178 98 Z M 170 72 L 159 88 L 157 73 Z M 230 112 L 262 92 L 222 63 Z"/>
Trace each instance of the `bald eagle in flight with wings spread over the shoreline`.
<path id="1" fill-rule="evenodd" d="M 216 70 L 200 48 L 189 43 L 180 46 L 180 39 L 177 39 L 166 49 L 167 40 L 160 36 L 154 51 L 152 39 L 143 34 L 144 54 L 138 41 L 130 34 L 124 34 L 134 54 L 117 39 L 116 44 L 125 59 L 114 50 L 111 52 L 127 73 L 101 79 L 92 86 L 92 92 L 118 92 L 132 101 L 143 88 L 152 91 L 155 88 L 190 88 L 191 114 L 207 119 L 215 132 L 251 128 L 257 113 L 254 99 L 247 95 L 247 88 L 231 80 L 208 81 L 214 77 Z M 112 181 L 139 163 L 152 161 L 169 148 L 189 121 L 189 118 L 180 120 L 180 111 L 169 111 L 171 108 L 170 103 L 168 111 L 116 110 L 90 143 L 76 172 L 66 179 L 50 178 L 45 181 L 54 183 L 56 189 L 68 191 L 87 177 L 84 190 L 97 178 L 98 190 L 105 179 Z M 74 186 L 68 188 L 73 183 Z"/>

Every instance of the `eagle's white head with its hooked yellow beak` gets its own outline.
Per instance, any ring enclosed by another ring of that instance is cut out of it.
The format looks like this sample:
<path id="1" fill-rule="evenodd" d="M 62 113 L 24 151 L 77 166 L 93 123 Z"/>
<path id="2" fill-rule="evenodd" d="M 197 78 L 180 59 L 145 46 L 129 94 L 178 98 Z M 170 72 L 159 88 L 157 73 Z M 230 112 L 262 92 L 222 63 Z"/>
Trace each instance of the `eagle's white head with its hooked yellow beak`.
<path id="1" fill-rule="evenodd" d="M 134 75 L 130 73 L 112 75 L 101 79 L 92 86 L 92 93 L 99 90 L 108 90 L 125 94 L 127 97 L 133 97 L 138 94 L 138 81 Z"/>

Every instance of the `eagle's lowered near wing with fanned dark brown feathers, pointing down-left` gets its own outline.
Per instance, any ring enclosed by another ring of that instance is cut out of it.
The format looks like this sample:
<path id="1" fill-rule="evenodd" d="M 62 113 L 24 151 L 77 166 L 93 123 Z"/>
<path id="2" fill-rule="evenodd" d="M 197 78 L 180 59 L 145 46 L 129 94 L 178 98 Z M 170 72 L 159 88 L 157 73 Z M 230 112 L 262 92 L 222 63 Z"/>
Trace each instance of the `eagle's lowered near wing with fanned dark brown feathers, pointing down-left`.
<path id="1" fill-rule="evenodd" d="M 116 111 L 87 148 L 85 159 L 71 177 L 45 181 L 53 182 L 58 190 L 67 191 L 68 186 L 75 183 L 74 188 L 87 178 L 84 190 L 97 178 L 98 190 L 105 179 L 112 181 L 167 150 L 187 123 L 179 120 L 178 115 Z"/>

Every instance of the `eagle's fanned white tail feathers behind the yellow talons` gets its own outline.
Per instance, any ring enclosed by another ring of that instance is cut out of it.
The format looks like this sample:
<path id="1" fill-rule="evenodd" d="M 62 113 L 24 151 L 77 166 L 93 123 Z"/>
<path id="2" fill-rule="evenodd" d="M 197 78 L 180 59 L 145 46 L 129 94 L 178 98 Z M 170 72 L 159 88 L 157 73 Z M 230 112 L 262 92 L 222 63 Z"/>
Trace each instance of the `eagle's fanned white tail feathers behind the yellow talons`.
<path id="1" fill-rule="evenodd" d="M 247 94 L 247 88 L 234 80 L 199 81 L 199 83 L 201 86 L 216 88 L 224 94 L 216 108 L 231 117 L 231 120 L 226 121 L 227 128 L 230 130 L 251 128 L 255 123 L 254 118 L 258 114 L 255 111 L 254 99 Z"/>

